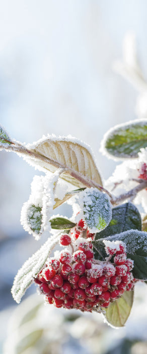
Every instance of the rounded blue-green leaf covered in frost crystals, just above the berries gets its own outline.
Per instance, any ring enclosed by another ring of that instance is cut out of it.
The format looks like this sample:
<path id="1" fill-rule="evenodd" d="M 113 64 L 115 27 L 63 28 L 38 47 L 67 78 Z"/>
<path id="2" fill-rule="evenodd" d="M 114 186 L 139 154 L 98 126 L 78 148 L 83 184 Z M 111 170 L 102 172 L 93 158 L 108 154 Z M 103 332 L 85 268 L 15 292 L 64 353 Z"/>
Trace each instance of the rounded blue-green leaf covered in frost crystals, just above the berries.
<path id="1" fill-rule="evenodd" d="M 103 230 L 111 220 L 112 210 L 107 194 L 97 188 L 86 188 L 81 194 L 84 218 L 92 232 Z"/>

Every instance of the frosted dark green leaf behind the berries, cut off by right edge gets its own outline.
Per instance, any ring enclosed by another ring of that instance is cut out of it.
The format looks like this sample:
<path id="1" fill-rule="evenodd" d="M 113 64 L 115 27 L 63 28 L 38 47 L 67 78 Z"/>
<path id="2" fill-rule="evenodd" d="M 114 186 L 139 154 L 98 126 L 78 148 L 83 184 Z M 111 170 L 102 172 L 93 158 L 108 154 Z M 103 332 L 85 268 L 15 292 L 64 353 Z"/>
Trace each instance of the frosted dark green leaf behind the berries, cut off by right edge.
<path id="1" fill-rule="evenodd" d="M 93 241 L 96 259 L 105 259 L 107 254 L 105 252 L 104 239 Z M 128 230 L 120 234 L 109 236 L 105 238 L 106 241 L 122 241 L 126 245 L 126 254 L 128 258 L 134 260 L 134 267 L 132 274 L 134 278 L 139 280 L 147 279 L 147 233 L 138 230 Z"/>

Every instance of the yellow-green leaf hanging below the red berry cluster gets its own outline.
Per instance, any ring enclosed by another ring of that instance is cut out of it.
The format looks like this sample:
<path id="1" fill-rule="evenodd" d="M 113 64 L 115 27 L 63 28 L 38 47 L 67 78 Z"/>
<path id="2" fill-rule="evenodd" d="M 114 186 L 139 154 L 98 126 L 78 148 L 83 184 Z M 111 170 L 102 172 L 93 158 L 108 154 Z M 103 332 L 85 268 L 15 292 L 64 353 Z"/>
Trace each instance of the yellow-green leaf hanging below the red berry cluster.
<path id="1" fill-rule="evenodd" d="M 125 291 L 122 296 L 110 303 L 105 318 L 113 327 L 123 327 L 129 317 L 133 304 L 133 291 Z"/>

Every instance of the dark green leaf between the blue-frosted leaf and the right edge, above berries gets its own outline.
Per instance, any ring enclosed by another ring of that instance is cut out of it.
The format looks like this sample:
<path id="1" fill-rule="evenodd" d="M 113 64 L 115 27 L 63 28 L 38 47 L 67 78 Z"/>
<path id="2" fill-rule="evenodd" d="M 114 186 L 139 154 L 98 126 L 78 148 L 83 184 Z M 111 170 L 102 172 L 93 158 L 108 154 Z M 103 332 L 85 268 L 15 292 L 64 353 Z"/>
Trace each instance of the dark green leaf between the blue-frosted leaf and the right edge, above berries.
<path id="1" fill-rule="evenodd" d="M 141 231 L 141 216 L 132 203 L 125 203 L 112 209 L 112 219 L 104 231 L 96 234 L 95 240 L 119 234 L 127 230 Z"/>

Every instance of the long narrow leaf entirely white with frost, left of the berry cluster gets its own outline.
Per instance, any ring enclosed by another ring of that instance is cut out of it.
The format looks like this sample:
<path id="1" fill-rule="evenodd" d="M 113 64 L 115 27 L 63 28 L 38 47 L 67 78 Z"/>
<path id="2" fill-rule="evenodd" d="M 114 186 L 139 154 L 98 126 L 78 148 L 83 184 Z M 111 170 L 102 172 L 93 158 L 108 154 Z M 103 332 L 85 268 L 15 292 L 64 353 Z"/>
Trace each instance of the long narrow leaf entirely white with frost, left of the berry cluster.
<path id="1" fill-rule="evenodd" d="M 20 303 L 27 288 L 33 283 L 34 278 L 42 269 L 52 248 L 58 243 L 58 238 L 50 237 L 41 248 L 29 257 L 18 271 L 11 289 L 12 296 L 17 303 Z"/>

